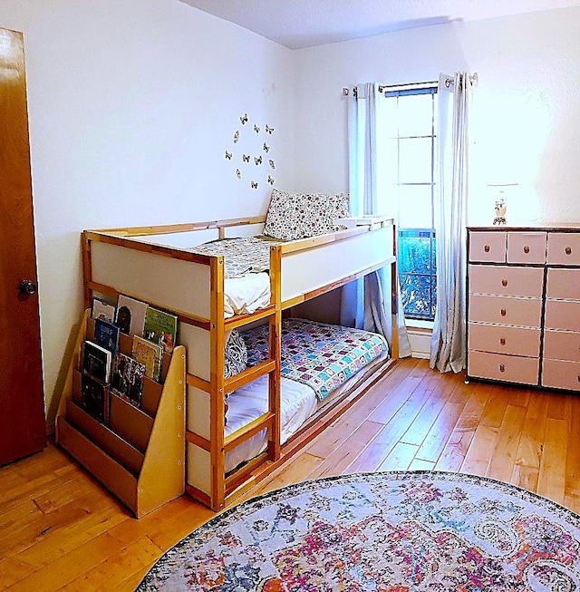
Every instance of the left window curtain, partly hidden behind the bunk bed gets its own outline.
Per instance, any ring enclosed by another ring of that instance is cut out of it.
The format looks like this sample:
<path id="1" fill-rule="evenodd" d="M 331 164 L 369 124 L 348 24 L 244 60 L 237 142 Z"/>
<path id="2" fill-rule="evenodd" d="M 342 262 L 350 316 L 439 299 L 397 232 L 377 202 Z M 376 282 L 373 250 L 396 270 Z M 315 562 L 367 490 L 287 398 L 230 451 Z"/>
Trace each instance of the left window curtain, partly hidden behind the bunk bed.
<path id="1" fill-rule="evenodd" d="M 377 214 L 377 129 L 376 90 L 373 82 L 359 84 L 349 101 L 349 170 L 351 214 Z M 390 246 L 385 245 L 385 248 Z M 397 291 L 399 283 L 397 278 Z M 385 296 L 388 298 L 385 300 Z M 392 345 L 391 274 L 385 269 L 352 282 L 343 288 L 341 323 L 355 323 L 368 331 L 384 335 Z M 401 297 L 397 298 L 399 356 L 411 355 L 411 345 L 402 313 Z"/>

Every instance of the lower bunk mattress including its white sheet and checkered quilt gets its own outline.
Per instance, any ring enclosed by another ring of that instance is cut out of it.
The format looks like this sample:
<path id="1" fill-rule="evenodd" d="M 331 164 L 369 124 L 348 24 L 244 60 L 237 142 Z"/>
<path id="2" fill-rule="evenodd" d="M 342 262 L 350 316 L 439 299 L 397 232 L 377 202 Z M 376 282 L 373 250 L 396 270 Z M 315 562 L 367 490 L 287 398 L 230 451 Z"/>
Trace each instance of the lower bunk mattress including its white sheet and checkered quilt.
<path id="1" fill-rule="evenodd" d="M 241 332 L 247 345 L 248 365 L 267 354 L 267 325 Z M 360 329 L 285 319 L 282 325 L 280 379 L 280 443 L 287 442 L 316 412 L 340 400 L 378 365 L 389 359 L 382 337 Z M 225 435 L 236 432 L 267 411 L 268 377 L 260 376 L 227 397 Z M 228 451 L 226 471 L 266 450 L 263 430 Z"/>

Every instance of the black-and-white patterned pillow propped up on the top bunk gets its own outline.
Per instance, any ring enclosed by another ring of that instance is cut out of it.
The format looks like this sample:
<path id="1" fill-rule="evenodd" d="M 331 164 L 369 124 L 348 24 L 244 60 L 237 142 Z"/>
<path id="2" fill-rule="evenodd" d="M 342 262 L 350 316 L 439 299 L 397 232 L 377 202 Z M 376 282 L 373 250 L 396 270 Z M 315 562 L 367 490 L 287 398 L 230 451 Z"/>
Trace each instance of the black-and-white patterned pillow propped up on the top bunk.
<path id="1" fill-rule="evenodd" d="M 334 219 L 348 216 L 348 194 L 287 193 L 272 189 L 264 234 L 279 240 L 316 237 L 343 229 L 334 224 Z"/>

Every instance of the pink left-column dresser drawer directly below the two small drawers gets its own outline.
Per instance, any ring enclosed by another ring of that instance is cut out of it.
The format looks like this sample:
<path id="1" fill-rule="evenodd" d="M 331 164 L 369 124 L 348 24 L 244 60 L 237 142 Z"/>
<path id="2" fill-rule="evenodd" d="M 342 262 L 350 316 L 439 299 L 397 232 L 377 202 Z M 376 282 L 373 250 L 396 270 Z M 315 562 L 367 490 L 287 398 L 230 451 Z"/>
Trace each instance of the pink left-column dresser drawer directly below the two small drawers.
<path id="1" fill-rule="evenodd" d="M 469 293 L 542 297 L 543 267 L 469 266 Z"/>

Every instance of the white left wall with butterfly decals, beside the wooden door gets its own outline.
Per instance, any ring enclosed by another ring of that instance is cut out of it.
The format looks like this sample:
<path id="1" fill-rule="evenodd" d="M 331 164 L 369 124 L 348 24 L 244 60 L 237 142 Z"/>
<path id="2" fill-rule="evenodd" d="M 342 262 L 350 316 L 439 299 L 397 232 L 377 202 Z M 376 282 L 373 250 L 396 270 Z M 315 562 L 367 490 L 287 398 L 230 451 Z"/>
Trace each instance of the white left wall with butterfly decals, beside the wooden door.
<path id="1" fill-rule="evenodd" d="M 294 55 L 178 0 L 3 0 L 0 26 L 24 33 L 52 423 L 82 313 L 82 229 L 264 213 L 267 164 L 237 180 L 235 162 L 267 123 L 276 186 L 292 189 Z"/>

